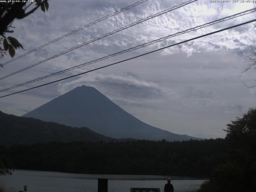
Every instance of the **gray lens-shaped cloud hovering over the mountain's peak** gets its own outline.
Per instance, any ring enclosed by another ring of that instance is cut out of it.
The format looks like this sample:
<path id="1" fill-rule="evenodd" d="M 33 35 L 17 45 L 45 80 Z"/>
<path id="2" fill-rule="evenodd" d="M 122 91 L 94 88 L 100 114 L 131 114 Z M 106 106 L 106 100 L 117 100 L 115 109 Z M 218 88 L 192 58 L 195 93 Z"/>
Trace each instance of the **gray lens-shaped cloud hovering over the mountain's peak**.
<path id="1" fill-rule="evenodd" d="M 98 88 L 106 95 L 118 100 L 159 100 L 165 97 L 177 97 L 169 88 L 163 88 L 154 82 L 140 80 L 133 72 L 124 76 L 106 74 L 88 74 L 72 82 L 59 84 L 61 94 L 83 84 Z M 114 94 L 113 94 L 114 93 Z"/>

